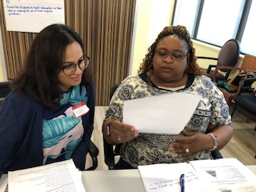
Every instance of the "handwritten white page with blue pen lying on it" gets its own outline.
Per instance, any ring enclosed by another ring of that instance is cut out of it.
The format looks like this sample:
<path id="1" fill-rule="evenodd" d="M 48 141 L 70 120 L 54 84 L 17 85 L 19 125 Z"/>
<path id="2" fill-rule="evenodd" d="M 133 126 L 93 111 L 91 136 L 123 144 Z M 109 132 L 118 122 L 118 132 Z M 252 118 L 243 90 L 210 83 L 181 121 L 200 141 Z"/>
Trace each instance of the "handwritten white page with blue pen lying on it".
<path id="1" fill-rule="evenodd" d="M 203 191 L 197 172 L 189 163 L 138 166 L 146 192 L 180 192 L 180 175 L 185 174 L 185 191 Z"/>

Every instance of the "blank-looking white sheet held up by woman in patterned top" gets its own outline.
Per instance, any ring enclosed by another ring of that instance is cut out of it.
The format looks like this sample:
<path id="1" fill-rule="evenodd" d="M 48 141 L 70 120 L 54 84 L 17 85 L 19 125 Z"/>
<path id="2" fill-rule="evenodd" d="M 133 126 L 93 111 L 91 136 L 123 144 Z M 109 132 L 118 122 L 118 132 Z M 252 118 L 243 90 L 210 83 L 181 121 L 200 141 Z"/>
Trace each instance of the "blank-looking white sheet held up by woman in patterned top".
<path id="1" fill-rule="evenodd" d="M 179 134 L 198 106 L 197 94 L 163 94 L 124 102 L 123 122 L 140 133 Z"/>

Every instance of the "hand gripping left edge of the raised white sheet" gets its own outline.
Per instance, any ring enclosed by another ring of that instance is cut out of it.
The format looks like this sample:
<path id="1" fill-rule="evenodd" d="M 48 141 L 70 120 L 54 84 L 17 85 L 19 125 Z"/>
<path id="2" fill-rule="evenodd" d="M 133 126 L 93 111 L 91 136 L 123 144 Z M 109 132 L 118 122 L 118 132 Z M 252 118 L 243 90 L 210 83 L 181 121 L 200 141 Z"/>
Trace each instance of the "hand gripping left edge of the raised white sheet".
<path id="1" fill-rule="evenodd" d="M 111 145 L 128 142 L 138 136 L 138 130 L 135 130 L 134 126 L 122 123 L 122 119 L 107 119 L 103 123 L 102 132 L 106 142 Z"/>

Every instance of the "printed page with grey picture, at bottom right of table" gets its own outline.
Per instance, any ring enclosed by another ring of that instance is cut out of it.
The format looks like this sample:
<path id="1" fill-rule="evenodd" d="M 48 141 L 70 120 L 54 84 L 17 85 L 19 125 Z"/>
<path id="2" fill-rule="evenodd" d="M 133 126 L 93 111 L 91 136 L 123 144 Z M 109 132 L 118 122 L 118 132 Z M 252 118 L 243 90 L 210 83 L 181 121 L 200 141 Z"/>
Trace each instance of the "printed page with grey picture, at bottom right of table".
<path id="1" fill-rule="evenodd" d="M 236 158 L 197 160 L 190 164 L 209 182 L 209 191 L 256 191 L 256 175 Z"/>

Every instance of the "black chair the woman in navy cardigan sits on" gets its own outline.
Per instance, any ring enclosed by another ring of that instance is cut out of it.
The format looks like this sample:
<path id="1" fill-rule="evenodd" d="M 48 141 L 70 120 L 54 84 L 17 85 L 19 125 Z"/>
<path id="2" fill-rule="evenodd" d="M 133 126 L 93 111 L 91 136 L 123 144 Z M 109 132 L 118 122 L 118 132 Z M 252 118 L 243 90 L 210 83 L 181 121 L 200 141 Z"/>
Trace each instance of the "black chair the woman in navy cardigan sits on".
<path id="1" fill-rule="evenodd" d="M 10 82 L 0 82 L 0 108 L 2 106 L 4 98 L 6 98 L 7 94 L 9 94 L 10 91 Z M 98 147 L 95 146 L 94 142 L 92 141 L 90 141 L 88 153 L 92 158 L 93 165 L 87 168 L 86 170 L 95 170 L 98 166 Z"/>

